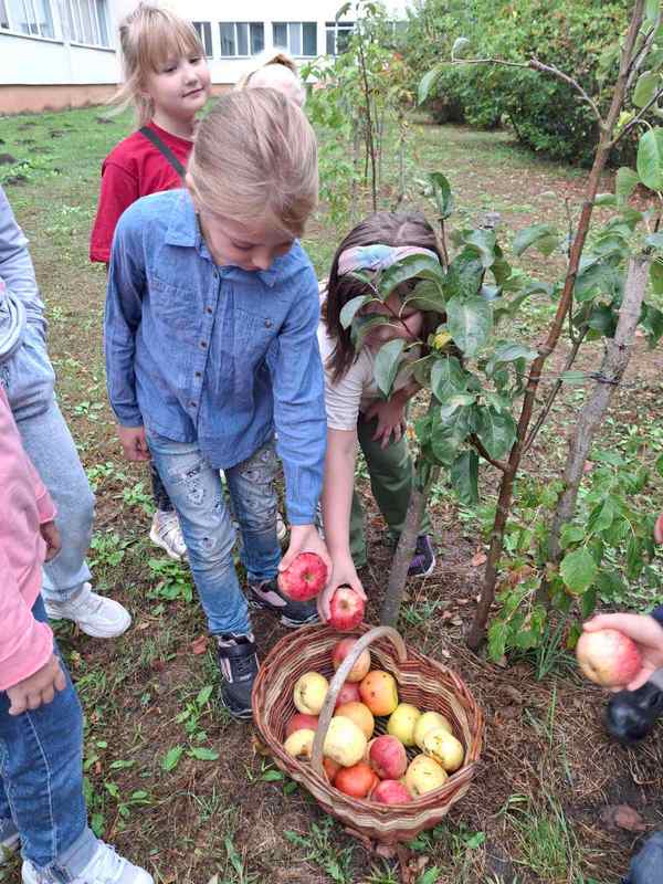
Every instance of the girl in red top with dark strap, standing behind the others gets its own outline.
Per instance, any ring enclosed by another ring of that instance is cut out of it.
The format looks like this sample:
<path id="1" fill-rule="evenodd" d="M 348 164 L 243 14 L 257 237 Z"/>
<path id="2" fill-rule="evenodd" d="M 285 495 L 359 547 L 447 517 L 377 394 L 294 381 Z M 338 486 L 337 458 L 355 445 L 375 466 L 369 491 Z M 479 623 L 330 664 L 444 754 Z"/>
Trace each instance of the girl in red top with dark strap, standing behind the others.
<path id="1" fill-rule="evenodd" d="M 120 214 L 140 197 L 182 187 L 196 115 L 210 94 L 204 51 L 190 22 L 140 3 L 119 28 L 125 84 L 116 103 L 133 103 L 138 131 L 113 148 L 102 166 L 102 190 L 90 260 L 108 264 Z M 150 463 L 156 512 L 150 540 L 179 560 L 187 548 L 177 514 Z"/>

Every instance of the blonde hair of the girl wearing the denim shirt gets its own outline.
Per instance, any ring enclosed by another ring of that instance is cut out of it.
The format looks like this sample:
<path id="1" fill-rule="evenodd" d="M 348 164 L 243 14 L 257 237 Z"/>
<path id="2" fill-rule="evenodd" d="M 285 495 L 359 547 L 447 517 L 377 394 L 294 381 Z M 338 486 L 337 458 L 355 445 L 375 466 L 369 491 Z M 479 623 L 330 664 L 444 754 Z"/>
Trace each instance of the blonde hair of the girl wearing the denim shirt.
<path id="1" fill-rule="evenodd" d="M 188 179 L 198 203 L 243 224 L 301 236 L 317 204 L 317 145 L 303 112 L 280 92 L 222 95 L 200 124 Z"/>

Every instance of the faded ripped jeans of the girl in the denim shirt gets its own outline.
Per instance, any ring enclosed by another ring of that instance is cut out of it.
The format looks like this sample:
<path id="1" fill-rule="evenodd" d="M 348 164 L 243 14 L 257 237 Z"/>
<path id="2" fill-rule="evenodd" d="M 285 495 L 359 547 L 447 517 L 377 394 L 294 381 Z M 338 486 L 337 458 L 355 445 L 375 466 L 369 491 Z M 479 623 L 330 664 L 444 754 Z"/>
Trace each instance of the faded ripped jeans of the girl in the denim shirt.
<path id="1" fill-rule="evenodd" d="M 218 470 L 197 442 L 173 442 L 148 431 L 147 441 L 166 491 L 177 509 L 189 565 L 212 635 L 251 631 L 246 599 L 232 559 L 235 533 Z M 242 532 L 242 565 L 251 582 L 276 576 L 278 461 L 272 439 L 242 463 L 224 470 L 232 508 Z"/>

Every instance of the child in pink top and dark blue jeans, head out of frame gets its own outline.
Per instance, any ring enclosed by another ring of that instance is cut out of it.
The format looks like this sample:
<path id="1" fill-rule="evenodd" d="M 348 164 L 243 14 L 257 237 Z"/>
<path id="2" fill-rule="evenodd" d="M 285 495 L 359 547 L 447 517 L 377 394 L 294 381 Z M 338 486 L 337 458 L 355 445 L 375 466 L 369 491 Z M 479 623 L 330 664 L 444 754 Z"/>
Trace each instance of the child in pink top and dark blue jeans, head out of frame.
<path id="1" fill-rule="evenodd" d="M 2 387 L 0 488 L 0 864 L 21 840 L 23 884 L 150 884 L 87 828 L 81 705 L 40 597 L 55 507 Z"/>

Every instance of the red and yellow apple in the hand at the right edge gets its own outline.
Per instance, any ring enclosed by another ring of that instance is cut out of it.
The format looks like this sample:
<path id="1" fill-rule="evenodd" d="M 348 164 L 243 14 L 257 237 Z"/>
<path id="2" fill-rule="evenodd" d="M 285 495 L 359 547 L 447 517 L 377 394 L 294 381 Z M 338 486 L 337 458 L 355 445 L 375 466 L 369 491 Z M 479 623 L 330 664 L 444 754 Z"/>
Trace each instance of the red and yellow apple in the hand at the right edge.
<path id="1" fill-rule="evenodd" d="M 583 632 L 576 645 L 576 656 L 585 675 L 603 687 L 623 687 L 642 669 L 638 645 L 615 629 Z"/>

